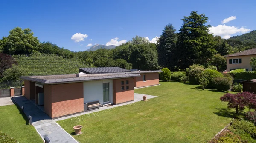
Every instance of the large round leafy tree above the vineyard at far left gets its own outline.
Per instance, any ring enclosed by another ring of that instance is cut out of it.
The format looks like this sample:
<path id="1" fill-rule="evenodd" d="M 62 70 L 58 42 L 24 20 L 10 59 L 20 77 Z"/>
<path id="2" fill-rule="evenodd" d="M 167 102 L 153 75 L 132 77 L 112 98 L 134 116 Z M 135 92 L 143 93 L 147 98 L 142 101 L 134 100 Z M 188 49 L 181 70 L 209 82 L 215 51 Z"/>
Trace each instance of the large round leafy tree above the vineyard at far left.
<path id="1" fill-rule="evenodd" d="M 29 29 L 15 27 L 9 31 L 8 37 L 3 37 L 0 47 L 6 54 L 32 54 L 38 50 L 39 40 L 33 36 L 34 33 Z"/>

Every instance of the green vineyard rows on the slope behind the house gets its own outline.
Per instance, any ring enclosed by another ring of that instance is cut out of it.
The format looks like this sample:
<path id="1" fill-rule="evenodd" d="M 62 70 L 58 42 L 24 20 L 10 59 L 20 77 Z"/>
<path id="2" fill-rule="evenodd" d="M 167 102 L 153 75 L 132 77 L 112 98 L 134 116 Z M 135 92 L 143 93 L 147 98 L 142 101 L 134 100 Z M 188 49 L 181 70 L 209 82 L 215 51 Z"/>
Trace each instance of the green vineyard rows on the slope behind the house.
<path id="1" fill-rule="evenodd" d="M 12 56 L 27 75 L 76 74 L 78 68 L 88 67 L 77 59 L 66 59 L 53 54 L 32 54 Z"/>

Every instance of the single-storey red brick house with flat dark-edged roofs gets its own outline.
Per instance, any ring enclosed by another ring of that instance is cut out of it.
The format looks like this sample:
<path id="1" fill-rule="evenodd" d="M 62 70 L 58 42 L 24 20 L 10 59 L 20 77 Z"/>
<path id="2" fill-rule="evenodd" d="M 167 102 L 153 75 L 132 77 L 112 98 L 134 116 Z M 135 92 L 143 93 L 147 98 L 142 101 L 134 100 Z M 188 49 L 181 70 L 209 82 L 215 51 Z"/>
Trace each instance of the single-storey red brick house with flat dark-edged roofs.
<path id="1" fill-rule="evenodd" d="M 133 101 L 134 87 L 158 85 L 159 72 L 162 71 L 79 68 L 79 74 L 20 78 L 25 83 L 24 96 L 55 118 L 84 112 L 87 102 L 99 100 L 102 105 L 109 105 Z"/>

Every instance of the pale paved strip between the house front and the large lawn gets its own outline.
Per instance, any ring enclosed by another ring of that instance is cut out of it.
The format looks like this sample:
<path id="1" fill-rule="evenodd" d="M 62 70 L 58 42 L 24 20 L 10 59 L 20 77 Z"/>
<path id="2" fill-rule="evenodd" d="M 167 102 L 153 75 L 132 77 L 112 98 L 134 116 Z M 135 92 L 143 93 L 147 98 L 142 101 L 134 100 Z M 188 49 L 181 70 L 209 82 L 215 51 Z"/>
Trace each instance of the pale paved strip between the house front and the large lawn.
<path id="1" fill-rule="evenodd" d="M 72 118 L 72 117 L 81 116 L 81 115 L 84 115 L 84 114 L 90 114 L 90 113 L 93 113 L 93 112 L 98 112 L 98 111 L 102 111 L 102 110 L 106 110 L 106 109 L 111 109 L 111 108 L 124 106 L 124 105 L 131 104 L 131 103 L 139 102 L 139 101 L 143 100 L 144 95 L 145 94 L 134 93 L 134 101 L 127 102 L 127 103 L 122 103 L 122 104 L 118 104 L 118 105 L 113 105 L 113 106 L 103 106 L 101 109 L 94 109 L 94 110 L 90 110 L 90 111 L 87 111 L 87 112 L 82 112 L 82 113 L 79 113 L 79 114 L 74 114 L 74 115 L 70 115 L 70 116 L 66 116 L 66 117 L 57 118 L 57 119 L 54 119 L 54 120 L 55 121 L 65 120 L 65 119 L 69 119 L 69 118 Z M 152 96 L 152 95 L 146 95 L 146 96 L 147 96 L 147 100 L 157 97 L 157 96 Z"/>

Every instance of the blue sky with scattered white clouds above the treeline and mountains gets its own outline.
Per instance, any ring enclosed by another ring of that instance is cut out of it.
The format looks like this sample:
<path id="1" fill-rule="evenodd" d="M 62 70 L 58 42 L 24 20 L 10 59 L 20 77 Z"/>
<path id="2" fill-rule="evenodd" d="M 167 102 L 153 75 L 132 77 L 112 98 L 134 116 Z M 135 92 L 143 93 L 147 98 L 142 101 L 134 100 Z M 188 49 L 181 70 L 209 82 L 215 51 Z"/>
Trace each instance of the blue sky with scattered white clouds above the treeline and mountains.
<path id="1" fill-rule="evenodd" d="M 198 11 L 209 17 L 213 33 L 228 38 L 256 29 L 255 6 L 255 0 L 4 0 L 0 37 L 17 26 L 30 28 L 41 42 L 71 51 L 119 45 L 136 35 L 154 42 L 166 24 L 178 31 L 180 19 Z"/>

